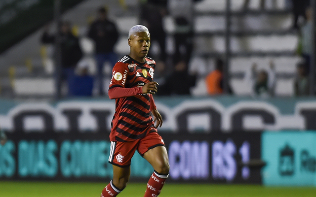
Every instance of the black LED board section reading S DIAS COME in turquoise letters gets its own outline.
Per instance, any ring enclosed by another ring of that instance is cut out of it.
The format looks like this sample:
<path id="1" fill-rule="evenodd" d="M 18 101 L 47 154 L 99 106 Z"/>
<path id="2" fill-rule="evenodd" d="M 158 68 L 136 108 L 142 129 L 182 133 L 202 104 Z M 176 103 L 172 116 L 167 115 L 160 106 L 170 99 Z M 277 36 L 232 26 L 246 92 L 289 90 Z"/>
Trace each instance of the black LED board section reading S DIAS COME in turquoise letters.
<path id="1" fill-rule="evenodd" d="M 111 179 L 110 142 L 50 139 L 8 141 L 0 145 L 0 178 L 6 179 Z M 148 178 L 152 166 L 138 153 L 132 158 L 131 177 Z"/>

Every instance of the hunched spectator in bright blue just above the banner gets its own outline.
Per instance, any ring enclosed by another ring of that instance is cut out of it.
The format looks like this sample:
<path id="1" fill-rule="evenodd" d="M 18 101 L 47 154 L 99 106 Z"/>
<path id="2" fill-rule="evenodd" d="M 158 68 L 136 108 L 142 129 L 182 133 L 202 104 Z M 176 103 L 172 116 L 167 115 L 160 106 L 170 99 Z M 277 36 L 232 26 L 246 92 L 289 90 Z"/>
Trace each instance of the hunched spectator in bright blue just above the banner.
<path id="1" fill-rule="evenodd" d="M 93 77 L 89 75 L 89 65 L 86 63 L 77 66 L 77 74 L 71 84 L 70 95 L 90 97 L 93 90 Z"/>

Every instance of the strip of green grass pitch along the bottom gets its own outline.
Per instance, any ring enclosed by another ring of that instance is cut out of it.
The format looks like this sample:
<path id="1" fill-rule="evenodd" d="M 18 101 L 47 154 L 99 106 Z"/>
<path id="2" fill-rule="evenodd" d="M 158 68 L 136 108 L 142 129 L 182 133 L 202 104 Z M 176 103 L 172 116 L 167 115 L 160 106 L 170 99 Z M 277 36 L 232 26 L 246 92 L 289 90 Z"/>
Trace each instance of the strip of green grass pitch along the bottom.
<path id="1" fill-rule="evenodd" d="M 105 184 L 0 181 L 0 197 L 100 197 Z M 145 189 L 129 183 L 118 197 L 143 197 Z M 159 197 L 316 197 L 316 188 L 167 183 Z"/>

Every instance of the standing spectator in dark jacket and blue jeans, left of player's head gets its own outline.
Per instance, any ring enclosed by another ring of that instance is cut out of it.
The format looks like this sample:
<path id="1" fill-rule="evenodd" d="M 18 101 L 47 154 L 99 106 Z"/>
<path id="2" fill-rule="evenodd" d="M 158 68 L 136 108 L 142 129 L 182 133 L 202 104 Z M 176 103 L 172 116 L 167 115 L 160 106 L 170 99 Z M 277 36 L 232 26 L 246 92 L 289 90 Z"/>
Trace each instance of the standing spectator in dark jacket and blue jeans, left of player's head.
<path id="1" fill-rule="evenodd" d="M 106 8 L 99 8 L 98 19 L 90 26 L 88 36 L 95 42 L 99 94 L 104 95 L 103 66 L 105 62 L 109 62 L 112 67 L 116 64 L 118 57 L 114 52 L 114 46 L 119 36 L 116 25 L 108 19 L 108 11 Z"/>

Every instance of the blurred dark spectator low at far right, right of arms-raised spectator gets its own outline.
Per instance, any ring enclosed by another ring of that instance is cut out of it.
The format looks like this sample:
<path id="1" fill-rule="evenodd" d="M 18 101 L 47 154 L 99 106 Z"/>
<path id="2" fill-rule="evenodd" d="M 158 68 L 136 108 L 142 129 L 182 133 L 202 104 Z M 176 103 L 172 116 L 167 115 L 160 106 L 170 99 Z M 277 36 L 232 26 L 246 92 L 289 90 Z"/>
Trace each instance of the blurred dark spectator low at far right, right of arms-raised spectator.
<path id="1" fill-rule="evenodd" d="M 309 79 L 306 70 L 306 64 L 299 63 L 297 65 L 297 77 L 294 81 L 294 94 L 295 96 L 308 96 L 309 95 Z"/>

